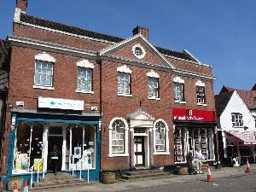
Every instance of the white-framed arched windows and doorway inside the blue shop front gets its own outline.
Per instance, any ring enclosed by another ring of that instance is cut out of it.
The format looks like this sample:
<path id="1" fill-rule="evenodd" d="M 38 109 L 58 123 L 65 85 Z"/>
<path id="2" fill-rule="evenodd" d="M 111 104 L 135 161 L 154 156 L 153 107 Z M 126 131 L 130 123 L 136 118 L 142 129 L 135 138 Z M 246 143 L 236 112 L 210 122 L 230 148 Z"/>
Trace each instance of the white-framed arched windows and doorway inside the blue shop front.
<path id="1" fill-rule="evenodd" d="M 94 125 L 21 122 L 15 131 L 13 173 L 42 172 L 43 167 L 49 171 L 55 145 L 60 151 L 59 171 L 96 168 Z"/>

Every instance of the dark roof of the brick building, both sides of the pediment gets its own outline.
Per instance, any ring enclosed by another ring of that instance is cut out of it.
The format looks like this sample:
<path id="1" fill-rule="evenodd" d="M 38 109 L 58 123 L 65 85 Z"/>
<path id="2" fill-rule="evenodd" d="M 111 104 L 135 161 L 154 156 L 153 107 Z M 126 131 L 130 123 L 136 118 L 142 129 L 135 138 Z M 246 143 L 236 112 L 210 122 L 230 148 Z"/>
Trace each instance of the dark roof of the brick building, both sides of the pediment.
<path id="1" fill-rule="evenodd" d="M 111 35 L 107 35 L 99 32 L 93 32 L 80 27 L 76 27 L 76 26 L 68 26 L 59 22 L 55 22 L 53 20 L 45 20 L 43 18 L 38 18 L 32 15 L 26 15 L 24 13 L 20 13 L 20 21 L 29 23 L 35 26 L 44 26 L 50 29 L 61 31 L 61 32 L 69 32 L 75 35 L 81 35 L 89 38 L 107 40 L 113 43 L 119 43 L 125 40 L 124 38 L 119 38 L 119 37 L 115 37 L 115 36 L 111 36 Z M 160 47 L 155 47 L 155 48 L 158 49 L 161 54 L 171 55 L 183 60 L 195 61 L 195 59 L 192 56 L 188 55 L 185 52 L 178 52 L 171 49 L 164 49 Z"/>

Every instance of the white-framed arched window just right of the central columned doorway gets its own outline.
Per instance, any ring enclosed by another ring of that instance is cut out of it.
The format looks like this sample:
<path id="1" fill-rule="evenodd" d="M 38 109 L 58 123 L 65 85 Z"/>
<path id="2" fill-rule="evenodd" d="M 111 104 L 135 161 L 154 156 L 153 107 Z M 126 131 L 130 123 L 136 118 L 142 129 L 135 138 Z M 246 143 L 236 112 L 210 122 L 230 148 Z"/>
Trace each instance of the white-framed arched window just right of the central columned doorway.
<path id="1" fill-rule="evenodd" d="M 163 119 L 159 119 L 154 123 L 154 153 L 169 154 L 169 137 L 168 125 Z"/>

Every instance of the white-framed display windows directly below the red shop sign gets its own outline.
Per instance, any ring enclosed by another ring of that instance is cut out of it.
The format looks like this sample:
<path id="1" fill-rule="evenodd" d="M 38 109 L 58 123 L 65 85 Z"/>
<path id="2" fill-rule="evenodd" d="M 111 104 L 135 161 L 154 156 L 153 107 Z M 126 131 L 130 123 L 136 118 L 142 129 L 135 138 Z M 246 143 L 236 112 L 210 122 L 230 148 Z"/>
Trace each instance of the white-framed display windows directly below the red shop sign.
<path id="1" fill-rule="evenodd" d="M 204 160 L 214 160 L 213 131 L 210 128 L 176 128 L 174 131 L 175 162 L 185 162 L 189 151 L 201 148 Z"/>

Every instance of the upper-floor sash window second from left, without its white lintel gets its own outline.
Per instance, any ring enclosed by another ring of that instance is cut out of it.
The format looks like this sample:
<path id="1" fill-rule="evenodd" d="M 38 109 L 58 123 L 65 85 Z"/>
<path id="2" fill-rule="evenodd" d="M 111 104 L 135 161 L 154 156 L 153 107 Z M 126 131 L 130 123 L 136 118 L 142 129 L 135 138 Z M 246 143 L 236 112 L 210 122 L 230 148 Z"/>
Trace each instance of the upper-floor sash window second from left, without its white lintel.
<path id="1" fill-rule="evenodd" d="M 91 91 L 92 70 L 90 68 L 78 67 L 77 90 Z"/>

